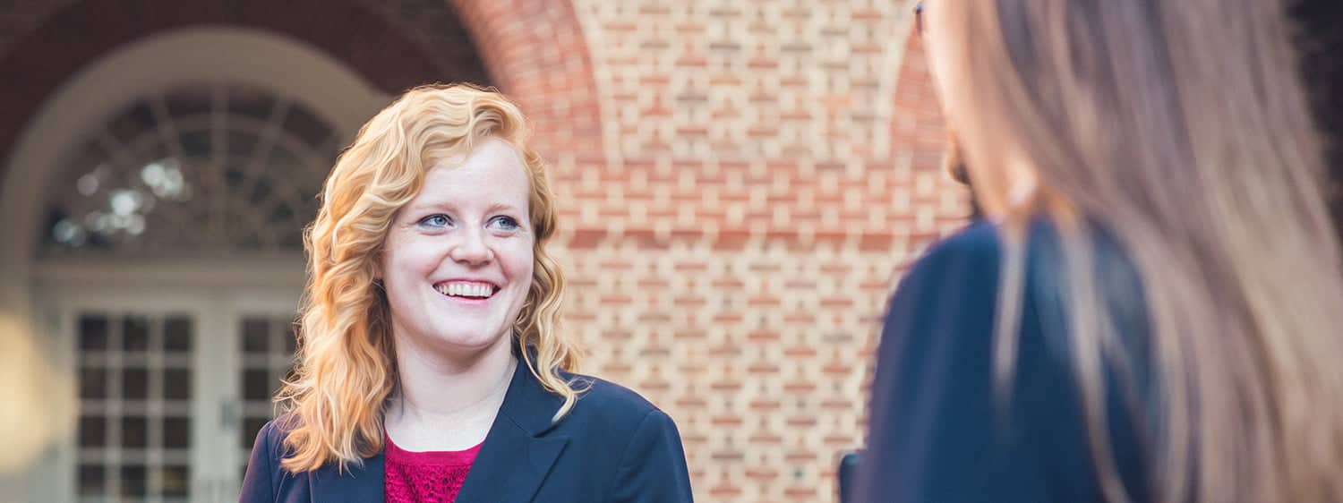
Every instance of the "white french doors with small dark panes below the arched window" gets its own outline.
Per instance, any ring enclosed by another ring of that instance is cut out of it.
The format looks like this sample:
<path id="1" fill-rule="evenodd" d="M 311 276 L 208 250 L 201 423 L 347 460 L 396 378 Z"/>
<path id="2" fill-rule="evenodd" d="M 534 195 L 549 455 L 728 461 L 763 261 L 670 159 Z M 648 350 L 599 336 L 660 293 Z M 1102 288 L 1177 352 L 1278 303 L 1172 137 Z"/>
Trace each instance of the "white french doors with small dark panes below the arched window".
<path id="1" fill-rule="evenodd" d="M 66 502 L 236 502 L 270 397 L 290 368 L 291 288 L 48 291 L 77 376 Z"/>

